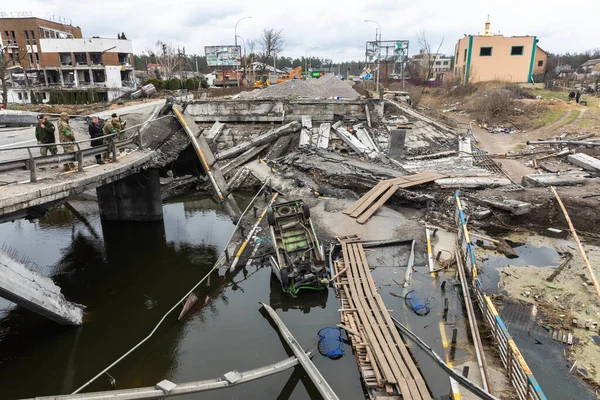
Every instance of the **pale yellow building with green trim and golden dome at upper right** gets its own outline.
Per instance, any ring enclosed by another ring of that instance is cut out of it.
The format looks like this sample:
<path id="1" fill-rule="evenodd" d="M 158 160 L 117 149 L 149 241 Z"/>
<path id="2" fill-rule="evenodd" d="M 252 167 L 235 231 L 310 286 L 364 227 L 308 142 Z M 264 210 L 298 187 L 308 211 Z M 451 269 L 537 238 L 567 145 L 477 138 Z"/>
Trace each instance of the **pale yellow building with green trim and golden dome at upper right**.
<path id="1" fill-rule="evenodd" d="M 548 54 L 535 36 L 494 35 L 490 22 L 483 35 L 469 35 L 456 44 L 454 73 L 461 82 L 508 81 L 533 82 L 544 74 Z"/>

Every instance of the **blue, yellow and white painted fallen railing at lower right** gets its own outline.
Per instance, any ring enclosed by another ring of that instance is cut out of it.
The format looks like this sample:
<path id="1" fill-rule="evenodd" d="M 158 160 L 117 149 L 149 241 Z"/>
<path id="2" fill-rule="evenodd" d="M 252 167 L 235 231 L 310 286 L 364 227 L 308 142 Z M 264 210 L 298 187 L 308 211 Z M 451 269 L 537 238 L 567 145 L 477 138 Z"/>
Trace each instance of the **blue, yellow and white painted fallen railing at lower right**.
<path id="1" fill-rule="evenodd" d="M 514 386 L 521 400 L 546 400 L 546 395 L 531 373 L 527 362 L 521 355 L 508 329 L 502 322 L 502 318 L 496 310 L 496 306 L 486 294 L 478 277 L 478 268 L 475 262 L 475 253 L 471 244 L 471 237 L 467 228 L 467 220 L 460 201 L 460 191 L 456 191 L 456 214 L 455 222 L 458 228 L 458 245 L 463 263 L 470 274 L 471 285 L 483 320 L 490 329 L 496 349 L 500 353 L 502 364 L 506 368 L 506 374 Z"/>

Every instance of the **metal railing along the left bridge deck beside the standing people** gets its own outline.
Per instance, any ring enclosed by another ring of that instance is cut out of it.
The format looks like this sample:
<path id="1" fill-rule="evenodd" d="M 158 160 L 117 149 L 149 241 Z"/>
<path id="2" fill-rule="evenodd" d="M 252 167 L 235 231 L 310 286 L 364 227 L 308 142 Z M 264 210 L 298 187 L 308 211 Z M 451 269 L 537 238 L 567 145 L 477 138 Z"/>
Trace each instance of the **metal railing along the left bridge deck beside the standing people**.
<path id="1" fill-rule="evenodd" d="M 122 149 L 131 144 L 135 144 L 138 148 L 143 148 L 143 129 L 149 123 L 163 119 L 163 118 L 172 118 L 173 115 L 165 115 L 162 117 L 158 117 L 152 119 L 150 121 L 143 122 L 139 125 L 134 125 L 129 128 L 125 128 L 120 132 L 111 133 L 110 135 L 103 135 L 97 138 L 89 138 L 83 140 L 76 140 L 73 142 L 57 142 L 57 143 L 48 143 L 48 144 L 36 144 L 36 145 L 27 145 L 27 146 L 15 146 L 15 147 L 6 147 L 0 148 L 1 151 L 20 151 L 27 150 L 29 153 L 29 157 L 3 161 L 0 162 L 0 172 L 4 171 L 15 171 L 28 169 L 30 173 L 29 181 L 32 183 L 37 182 L 37 168 L 45 165 L 54 165 L 60 163 L 77 163 L 77 171 L 83 172 L 83 160 L 86 157 L 95 156 L 96 154 L 102 153 L 112 153 L 112 161 L 118 162 L 117 159 L 117 150 Z M 128 134 L 129 136 L 123 140 L 116 140 L 115 136 L 119 134 Z M 93 140 L 103 140 L 103 144 L 100 146 L 86 147 L 82 148 L 82 144 L 89 143 Z M 107 140 L 108 139 L 108 140 Z M 34 156 L 33 151 L 36 149 L 41 149 L 43 147 L 52 147 L 56 146 L 57 148 L 60 146 L 75 146 L 75 151 L 72 153 L 61 153 L 56 155 L 49 156 Z M 33 151 L 32 151 L 33 150 Z"/>

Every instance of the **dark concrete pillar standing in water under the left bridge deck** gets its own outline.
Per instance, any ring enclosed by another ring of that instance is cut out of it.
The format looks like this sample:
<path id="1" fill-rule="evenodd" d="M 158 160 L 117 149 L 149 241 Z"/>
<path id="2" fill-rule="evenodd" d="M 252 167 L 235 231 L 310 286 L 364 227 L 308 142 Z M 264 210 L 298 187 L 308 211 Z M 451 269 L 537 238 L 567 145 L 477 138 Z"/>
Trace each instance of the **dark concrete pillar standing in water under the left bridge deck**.
<path id="1" fill-rule="evenodd" d="M 162 199 L 158 169 L 150 168 L 96 189 L 105 221 L 160 221 Z"/>

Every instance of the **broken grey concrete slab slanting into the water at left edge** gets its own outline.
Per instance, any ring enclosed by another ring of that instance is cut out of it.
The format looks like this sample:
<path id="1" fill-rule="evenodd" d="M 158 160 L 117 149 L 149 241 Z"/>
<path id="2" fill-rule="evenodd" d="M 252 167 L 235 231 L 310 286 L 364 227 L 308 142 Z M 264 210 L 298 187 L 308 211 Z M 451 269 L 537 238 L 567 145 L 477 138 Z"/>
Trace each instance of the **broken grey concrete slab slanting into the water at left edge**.
<path id="1" fill-rule="evenodd" d="M 0 296 L 62 325 L 81 325 L 83 307 L 71 303 L 52 279 L 0 252 Z"/>

